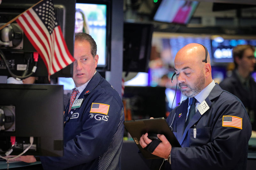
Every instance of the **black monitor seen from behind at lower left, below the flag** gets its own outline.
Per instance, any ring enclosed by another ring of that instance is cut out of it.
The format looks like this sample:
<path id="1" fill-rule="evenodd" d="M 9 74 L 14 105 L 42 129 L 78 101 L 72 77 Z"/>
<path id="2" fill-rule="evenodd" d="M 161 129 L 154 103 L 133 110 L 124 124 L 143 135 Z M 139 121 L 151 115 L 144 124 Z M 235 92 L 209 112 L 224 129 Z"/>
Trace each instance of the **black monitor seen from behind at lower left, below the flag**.
<path id="1" fill-rule="evenodd" d="M 62 85 L 0 84 L 0 94 L 0 108 L 5 117 L 4 125 L 0 126 L 2 151 L 11 147 L 11 136 L 16 137 L 12 155 L 23 152 L 29 145 L 29 137 L 34 137 L 25 154 L 63 156 Z"/>

